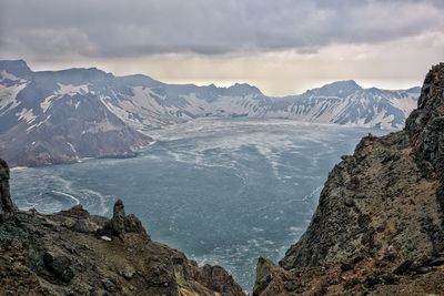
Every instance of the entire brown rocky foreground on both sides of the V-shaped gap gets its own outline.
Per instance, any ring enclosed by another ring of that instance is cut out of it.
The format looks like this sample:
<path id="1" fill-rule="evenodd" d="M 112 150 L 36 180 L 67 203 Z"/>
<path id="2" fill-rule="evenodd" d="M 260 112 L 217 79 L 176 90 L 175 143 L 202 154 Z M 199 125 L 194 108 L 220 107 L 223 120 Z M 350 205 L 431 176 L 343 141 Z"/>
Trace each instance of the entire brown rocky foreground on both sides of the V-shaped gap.
<path id="1" fill-rule="evenodd" d="M 0 161 L 0 295 L 244 295 L 152 242 L 120 201 L 111 220 L 18 211 L 8 180 Z M 444 63 L 403 131 L 343 156 L 306 233 L 279 265 L 259 259 L 253 295 L 444 295 Z"/>

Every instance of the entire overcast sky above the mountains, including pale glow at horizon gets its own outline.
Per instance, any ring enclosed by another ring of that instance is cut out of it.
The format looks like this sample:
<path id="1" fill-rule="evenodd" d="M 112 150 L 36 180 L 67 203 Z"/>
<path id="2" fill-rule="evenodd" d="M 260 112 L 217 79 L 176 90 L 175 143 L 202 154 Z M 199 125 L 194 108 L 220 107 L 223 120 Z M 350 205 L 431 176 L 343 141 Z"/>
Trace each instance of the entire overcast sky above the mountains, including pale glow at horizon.
<path id="1" fill-rule="evenodd" d="M 401 89 L 444 61 L 443 0 L 1 0 L 0 59 L 291 94 Z"/>

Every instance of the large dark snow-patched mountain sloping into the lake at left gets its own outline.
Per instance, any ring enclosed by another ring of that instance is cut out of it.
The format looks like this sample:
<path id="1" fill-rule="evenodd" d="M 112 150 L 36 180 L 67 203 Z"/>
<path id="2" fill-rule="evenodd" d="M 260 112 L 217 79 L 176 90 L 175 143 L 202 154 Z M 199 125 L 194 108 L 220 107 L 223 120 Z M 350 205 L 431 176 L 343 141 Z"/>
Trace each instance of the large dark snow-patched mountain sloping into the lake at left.
<path id="1" fill-rule="evenodd" d="M 0 78 L 0 154 L 13 165 L 128 155 L 152 141 L 88 90 L 105 89 L 111 74 L 31 72 L 24 61 L 3 61 Z"/>

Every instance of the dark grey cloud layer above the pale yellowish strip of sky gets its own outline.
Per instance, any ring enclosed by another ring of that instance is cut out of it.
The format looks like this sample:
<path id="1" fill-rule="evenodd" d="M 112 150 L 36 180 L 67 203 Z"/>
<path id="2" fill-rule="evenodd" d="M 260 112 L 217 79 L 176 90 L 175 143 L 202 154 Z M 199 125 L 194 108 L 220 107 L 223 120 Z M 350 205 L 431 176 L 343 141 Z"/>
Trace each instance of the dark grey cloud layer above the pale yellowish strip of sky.
<path id="1" fill-rule="evenodd" d="M 0 54 L 305 53 L 444 31 L 443 13 L 433 0 L 2 0 Z"/>

